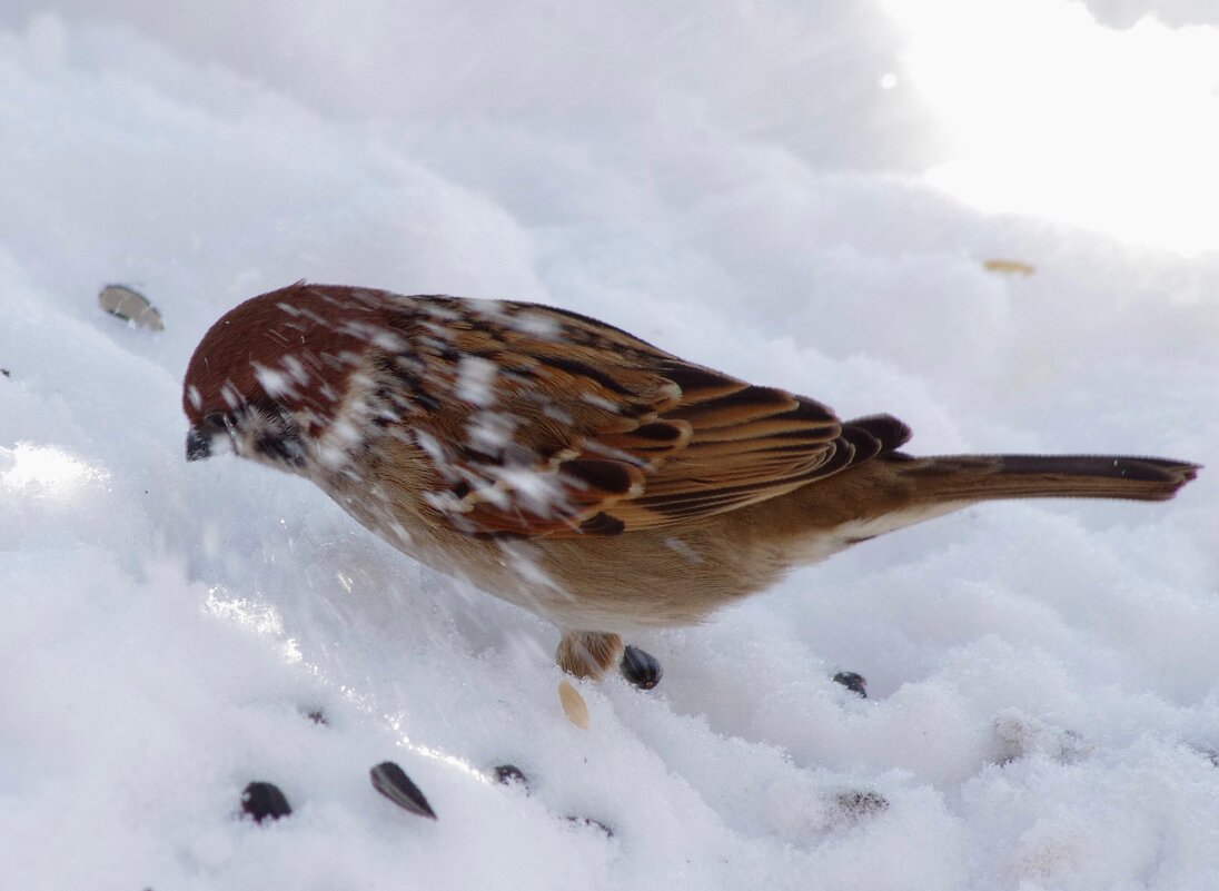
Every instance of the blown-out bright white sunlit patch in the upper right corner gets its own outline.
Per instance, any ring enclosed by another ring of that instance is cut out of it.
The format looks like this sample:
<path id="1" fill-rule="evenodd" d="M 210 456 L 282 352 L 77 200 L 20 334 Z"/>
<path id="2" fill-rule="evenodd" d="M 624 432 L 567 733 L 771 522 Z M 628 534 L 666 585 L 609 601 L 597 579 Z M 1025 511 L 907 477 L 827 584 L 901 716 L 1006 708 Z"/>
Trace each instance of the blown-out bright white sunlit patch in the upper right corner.
<path id="1" fill-rule="evenodd" d="M 1067 0 L 886 9 L 952 146 L 931 183 L 1130 244 L 1219 249 L 1219 28 L 1118 30 Z"/>

